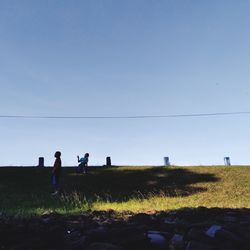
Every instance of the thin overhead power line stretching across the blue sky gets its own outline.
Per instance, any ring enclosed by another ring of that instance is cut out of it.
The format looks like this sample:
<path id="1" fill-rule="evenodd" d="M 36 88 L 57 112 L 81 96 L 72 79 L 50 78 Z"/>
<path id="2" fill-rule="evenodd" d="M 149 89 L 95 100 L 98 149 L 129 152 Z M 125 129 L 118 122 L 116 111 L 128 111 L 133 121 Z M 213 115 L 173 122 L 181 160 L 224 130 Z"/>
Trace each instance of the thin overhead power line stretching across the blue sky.
<path id="1" fill-rule="evenodd" d="M 154 118 L 185 118 L 227 115 L 249 115 L 250 111 L 217 112 L 217 113 L 190 113 L 170 115 L 134 115 L 134 116 L 37 116 L 37 115 L 0 115 L 0 118 L 16 119 L 154 119 Z"/>

